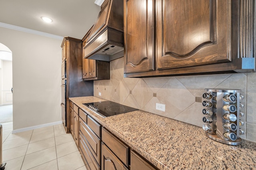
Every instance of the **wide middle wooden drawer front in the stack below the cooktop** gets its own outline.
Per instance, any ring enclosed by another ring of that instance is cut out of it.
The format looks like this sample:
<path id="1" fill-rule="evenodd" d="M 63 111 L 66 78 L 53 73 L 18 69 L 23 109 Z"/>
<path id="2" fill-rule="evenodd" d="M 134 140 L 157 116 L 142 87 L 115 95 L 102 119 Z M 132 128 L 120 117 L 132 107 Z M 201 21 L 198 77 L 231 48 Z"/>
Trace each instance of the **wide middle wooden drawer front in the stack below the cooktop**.
<path id="1" fill-rule="evenodd" d="M 94 158 L 100 164 L 100 138 L 93 133 L 93 131 L 80 119 L 80 133 L 85 138 L 85 142 L 88 143 L 88 148 L 92 152 Z"/>

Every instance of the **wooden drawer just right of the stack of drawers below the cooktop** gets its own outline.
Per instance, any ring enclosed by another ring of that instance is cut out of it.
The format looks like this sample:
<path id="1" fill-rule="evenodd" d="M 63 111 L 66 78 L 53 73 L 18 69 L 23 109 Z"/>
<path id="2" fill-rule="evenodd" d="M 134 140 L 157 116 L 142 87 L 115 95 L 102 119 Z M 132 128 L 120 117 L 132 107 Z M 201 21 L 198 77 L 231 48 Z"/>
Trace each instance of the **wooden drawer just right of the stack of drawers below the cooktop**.
<path id="1" fill-rule="evenodd" d="M 128 166 L 129 148 L 119 139 L 110 134 L 106 129 L 102 128 L 102 142 L 104 142 L 112 152 L 118 156 L 126 166 Z"/>

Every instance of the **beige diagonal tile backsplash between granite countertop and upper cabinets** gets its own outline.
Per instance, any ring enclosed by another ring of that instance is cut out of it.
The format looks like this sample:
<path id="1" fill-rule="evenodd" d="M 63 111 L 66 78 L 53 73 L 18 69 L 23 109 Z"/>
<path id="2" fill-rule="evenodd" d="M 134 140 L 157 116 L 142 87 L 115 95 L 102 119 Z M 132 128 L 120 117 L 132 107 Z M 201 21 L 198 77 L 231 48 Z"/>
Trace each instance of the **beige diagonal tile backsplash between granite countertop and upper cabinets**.
<path id="1" fill-rule="evenodd" d="M 241 90 L 241 138 L 256 142 L 256 73 L 124 78 L 120 58 L 110 62 L 110 80 L 94 81 L 94 96 L 201 127 L 203 106 L 196 97 L 202 97 L 205 88 Z M 157 110 L 156 103 L 165 104 L 165 111 Z"/>

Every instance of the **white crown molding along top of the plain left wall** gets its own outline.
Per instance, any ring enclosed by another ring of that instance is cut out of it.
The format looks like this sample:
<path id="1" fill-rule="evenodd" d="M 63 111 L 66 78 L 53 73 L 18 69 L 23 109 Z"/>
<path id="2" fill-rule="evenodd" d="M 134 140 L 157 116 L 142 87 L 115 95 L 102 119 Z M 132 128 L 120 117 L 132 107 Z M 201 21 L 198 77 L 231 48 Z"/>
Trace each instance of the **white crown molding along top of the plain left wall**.
<path id="1" fill-rule="evenodd" d="M 22 32 L 26 32 L 26 33 L 32 33 L 32 34 L 36 34 L 36 35 L 41 35 L 41 36 L 44 36 L 44 37 L 50 37 L 50 38 L 54 38 L 54 39 L 60 39 L 60 40 L 63 39 L 62 36 L 53 35 L 53 34 L 49 34 L 49 33 L 44 33 L 44 32 L 41 32 L 41 31 L 36 31 L 36 30 L 33 30 L 33 29 L 24 28 L 24 27 L 19 27 L 19 26 L 8 24 L 8 23 L 0 22 L 0 27 L 4 27 L 4 28 L 8 28 L 8 29 L 14 29 L 14 30 L 22 31 Z"/>

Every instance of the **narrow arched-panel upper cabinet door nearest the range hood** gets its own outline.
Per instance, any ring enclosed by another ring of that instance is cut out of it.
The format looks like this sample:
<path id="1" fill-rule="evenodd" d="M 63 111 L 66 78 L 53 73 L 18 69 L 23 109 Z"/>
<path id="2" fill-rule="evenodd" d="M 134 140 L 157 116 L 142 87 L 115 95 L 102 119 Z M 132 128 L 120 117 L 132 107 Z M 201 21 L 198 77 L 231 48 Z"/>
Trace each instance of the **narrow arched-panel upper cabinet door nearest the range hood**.
<path id="1" fill-rule="evenodd" d="M 124 72 L 154 70 L 154 0 L 124 2 Z"/>

